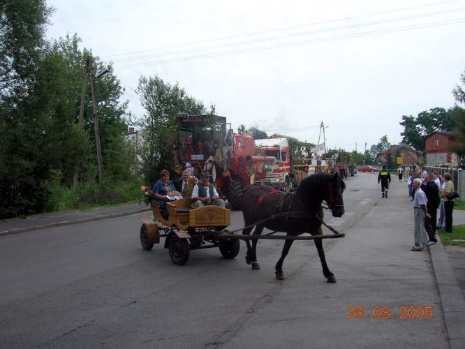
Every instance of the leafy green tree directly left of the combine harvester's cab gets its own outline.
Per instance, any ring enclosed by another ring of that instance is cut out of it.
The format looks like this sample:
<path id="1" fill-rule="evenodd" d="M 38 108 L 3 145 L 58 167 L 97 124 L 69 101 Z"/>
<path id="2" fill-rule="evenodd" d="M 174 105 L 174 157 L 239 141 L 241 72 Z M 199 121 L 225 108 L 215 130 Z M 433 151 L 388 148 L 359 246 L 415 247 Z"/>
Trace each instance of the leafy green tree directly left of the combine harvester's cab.
<path id="1" fill-rule="evenodd" d="M 163 169 L 172 169 L 172 144 L 182 114 L 205 114 L 202 102 L 186 94 L 179 84 L 171 85 L 161 77 L 140 77 L 138 94 L 147 111 L 138 121 L 141 130 L 142 174 L 153 183 Z M 214 106 L 212 106 L 214 108 Z"/>

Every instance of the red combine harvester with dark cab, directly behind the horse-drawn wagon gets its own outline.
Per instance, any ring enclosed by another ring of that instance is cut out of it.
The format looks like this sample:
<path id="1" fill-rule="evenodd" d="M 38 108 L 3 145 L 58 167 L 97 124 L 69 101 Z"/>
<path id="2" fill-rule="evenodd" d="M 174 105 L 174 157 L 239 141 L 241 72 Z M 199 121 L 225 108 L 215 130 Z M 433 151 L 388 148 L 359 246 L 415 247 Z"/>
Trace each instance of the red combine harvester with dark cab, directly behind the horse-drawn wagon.
<path id="1" fill-rule="evenodd" d="M 173 149 L 179 170 L 207 174 L 232 209 L 240 209 L 239 193 L 265 179 L 265 163 L 273 156 L 257 156 L 253 136 L 234 133 L 226 117 L 186 115 L 179 117 L 179 132 Z"/>

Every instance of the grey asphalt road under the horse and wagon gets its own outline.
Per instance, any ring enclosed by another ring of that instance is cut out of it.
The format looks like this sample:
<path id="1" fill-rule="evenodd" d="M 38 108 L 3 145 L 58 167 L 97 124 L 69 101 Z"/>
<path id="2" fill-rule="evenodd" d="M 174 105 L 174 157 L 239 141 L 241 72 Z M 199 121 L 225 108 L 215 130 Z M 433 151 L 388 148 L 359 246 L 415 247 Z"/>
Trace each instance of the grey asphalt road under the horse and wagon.
<path id="1" fill-rule="evenodd" d="M 325 240 L 336 284 L 313 242 L 295 242 L 285 281 L 274 240 L 258 244 L 260 271 L 244 243 L 234 260 L 207 249 L 179 267 L 162 245 L 142 251 L 141 214 L 3 236 L 0 348 L 448 348 L 429 252 L 410 251 L 405 184 L 388 199 L 376 174 L 346 184 L 346 214 L 325 219 L 346 232 Z M 232 221 L 243 226 L 239 212 Z M 410 306 L 433 317 L 401 318 Z M 390 317 L 374 318 L 378 307 Z"/>

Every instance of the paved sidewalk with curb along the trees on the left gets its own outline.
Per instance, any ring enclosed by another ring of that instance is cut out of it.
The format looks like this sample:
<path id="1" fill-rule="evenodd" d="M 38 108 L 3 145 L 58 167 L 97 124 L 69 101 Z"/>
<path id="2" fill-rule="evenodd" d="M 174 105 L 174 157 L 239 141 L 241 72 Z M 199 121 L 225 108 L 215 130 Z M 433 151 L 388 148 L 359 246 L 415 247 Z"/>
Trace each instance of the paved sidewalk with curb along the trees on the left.
<path id="1" fill-rule="evenodd" d="M 5 221 L 0 221 L 0 237 L 1 235 L 97 221 L 99 219 L 138 214 L 145 211 L 150 211 L 150 206 L 146 206 L 143 202 L 139 205 L 136 202 L 117 206 L 96 207 L 94 209 L 36 214 L 27 218 L 6 219 Z"/>

